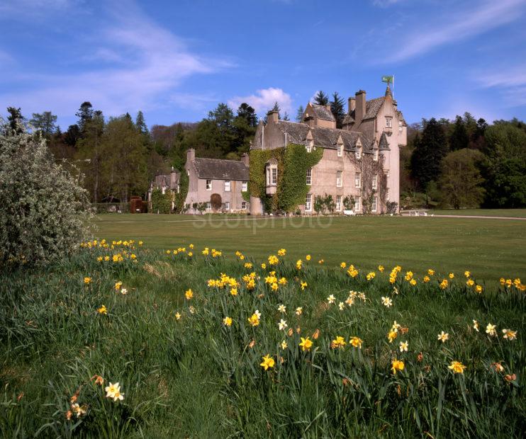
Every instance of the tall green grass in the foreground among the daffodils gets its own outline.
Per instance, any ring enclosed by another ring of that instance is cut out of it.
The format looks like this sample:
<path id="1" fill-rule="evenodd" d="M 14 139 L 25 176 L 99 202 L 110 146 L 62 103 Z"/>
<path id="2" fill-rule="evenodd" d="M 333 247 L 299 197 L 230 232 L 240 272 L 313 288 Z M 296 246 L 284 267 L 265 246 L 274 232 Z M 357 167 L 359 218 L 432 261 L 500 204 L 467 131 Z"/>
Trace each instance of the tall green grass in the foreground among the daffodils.
<path id="1" fill-rule="evenodd" d="M 134 249 L 137 262 L 113 263 L 96 260 L 112 251 L 82 249 L 47 269 L 2 273 L 5 437 L 495 438 L 525 431 L 526 305 L 515 287 L 477 294 L 463 267 L 441 290 L 442 275 L 413 287 L 404 270 L 391 285 L 388 268 L 366 280 L 366 273 L 352 278 L 314 261 L 298 270 L 286 256 L 262 269 L 267 261 L 252 261 L 250 249 L 243 261 L 205 257 L 201 249 L 189 257 L 188 250 Z M 288 281 L 275 292 L 264 282 L 271 269 Z M 242 277 L 252 271 L 249 290 Z M 220 273 L 238 281 L 237 295 L 207 286 Z M 118 281 L 127 294 L 116 290 Z M 340 310 L 350 290 L 365 300 Z M 97 312 L 102 304 L 107 314 Z M 256 309 L 262 318 L 251 326 Z M 232 326 L 223 324 L 227 316 Z M 403 331 L 389 343 L 395 320 Z M 498 336 L 486 334 L 488 323 Z M 517 330 L 517 339 L 504 339 L 505 328 Z M 445 343 L 437 340 L 441 331 L 449 333 Z M 304 352 L 299 343 L 307 336 L 313 346 Z M 336 336 L 359 336 L 362 348 L 333 349 Z M 408 352 L 399 341 L 408 341 Z M 275 365 L 265 371 L 259 363 L 267 354 Z M 393 358 L 403 371 L 393 374 Z M 466 365 L 463 374 L 448 369 L 452 360 Z M 98 375 L 103 386 L 93 380 Z M 123 401 L 105 397 L 108 382 L 121 384 Z M 74 395 L 86 414 L 67 420 Z"/>

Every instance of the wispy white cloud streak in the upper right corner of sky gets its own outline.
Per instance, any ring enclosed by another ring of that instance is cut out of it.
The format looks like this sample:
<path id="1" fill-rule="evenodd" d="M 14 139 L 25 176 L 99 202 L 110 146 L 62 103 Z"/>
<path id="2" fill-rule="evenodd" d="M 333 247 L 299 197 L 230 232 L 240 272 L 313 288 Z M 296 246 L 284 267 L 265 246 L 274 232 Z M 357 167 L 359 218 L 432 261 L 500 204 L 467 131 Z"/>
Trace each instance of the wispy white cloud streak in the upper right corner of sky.
<path id="1" fill-rule="evenodd" d="M 485 33 L 519 19 L 524 6 L 524 0 L 486 0 L 454 13 L 449 9 L 440 21 L 425 23 L 405 35 L 397 45 L 396 53 L 383 61 L 403 61 L 423 55 L 436 47 Z"/>

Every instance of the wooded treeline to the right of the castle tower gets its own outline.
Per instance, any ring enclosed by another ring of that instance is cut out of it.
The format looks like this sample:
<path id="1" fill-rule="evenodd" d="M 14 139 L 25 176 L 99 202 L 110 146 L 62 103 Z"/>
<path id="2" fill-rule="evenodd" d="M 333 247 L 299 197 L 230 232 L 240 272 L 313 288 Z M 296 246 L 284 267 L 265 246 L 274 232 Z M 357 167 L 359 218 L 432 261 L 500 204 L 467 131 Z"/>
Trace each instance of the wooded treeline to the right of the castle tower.
<path id="1" fill-rule="evenodd" d="M 464 113 L 408 127 L 401 207 L 525 207 L 526 124 Z"/>

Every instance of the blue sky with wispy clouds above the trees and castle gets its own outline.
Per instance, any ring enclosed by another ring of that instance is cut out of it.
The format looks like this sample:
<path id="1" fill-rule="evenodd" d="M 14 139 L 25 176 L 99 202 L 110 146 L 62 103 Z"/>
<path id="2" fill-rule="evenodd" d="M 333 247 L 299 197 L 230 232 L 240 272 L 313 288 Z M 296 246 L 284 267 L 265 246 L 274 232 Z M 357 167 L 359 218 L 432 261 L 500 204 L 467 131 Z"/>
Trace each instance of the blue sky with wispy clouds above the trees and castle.
<path id="1" fill-rule="evenodd" d="M 0 1 L 0 114 L 83 101 L 148 125 L 219 102 L 295 115 L 319 89 L 381 96 L 405 119 L 526 119 L 526 0 Z"/>

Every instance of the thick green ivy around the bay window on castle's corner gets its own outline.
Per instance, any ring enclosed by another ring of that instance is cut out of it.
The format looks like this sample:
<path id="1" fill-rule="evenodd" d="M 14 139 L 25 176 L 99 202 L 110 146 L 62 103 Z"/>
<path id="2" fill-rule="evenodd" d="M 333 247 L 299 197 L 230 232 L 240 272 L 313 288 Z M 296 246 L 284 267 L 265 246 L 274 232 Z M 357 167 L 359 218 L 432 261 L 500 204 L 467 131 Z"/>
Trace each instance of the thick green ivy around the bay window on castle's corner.
<path id="1" fill-rule="evenodd" d="M 307 169 L 318 164 L 323 148 L 307 152 L 305 145 L 289 144 L 276 149 L 252 149 L 250 152 L 250 195 L 263 200 L 265 210 L 292 212 L 305 203 L 310 186 L 306 184 Z M 276 194 L 267 196 L 265 164 L 269 159 L 278 162 Z"/>

